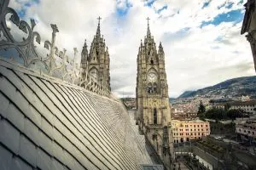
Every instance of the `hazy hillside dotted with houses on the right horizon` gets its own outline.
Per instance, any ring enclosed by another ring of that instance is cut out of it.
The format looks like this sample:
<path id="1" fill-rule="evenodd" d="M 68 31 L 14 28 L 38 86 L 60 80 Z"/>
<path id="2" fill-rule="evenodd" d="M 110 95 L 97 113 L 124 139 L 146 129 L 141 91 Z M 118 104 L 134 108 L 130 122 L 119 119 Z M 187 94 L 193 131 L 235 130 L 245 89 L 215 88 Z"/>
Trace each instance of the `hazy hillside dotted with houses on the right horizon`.
<path id="1" fill-rule="evenodd" d="M 241 95 L 256 96 L 256 76 L 233 78 L 211 87 L 185 91 L 178 99 L 195 96 L 241 97 Z"/>

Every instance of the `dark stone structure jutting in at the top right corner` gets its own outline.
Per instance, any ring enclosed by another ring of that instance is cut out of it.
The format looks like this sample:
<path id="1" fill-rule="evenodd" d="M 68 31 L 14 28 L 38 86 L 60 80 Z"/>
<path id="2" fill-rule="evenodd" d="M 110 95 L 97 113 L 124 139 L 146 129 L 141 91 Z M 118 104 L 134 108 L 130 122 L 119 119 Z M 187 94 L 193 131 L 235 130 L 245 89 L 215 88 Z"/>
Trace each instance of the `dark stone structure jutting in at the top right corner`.
<path id="1" fill-rule="evenodd" d="M 247 0 L 245 3 L 246 12 L 241 26 L 241 34 L 247 32 L 247 41 L 250 42 L 254 68 L 256 71 L 256 1 Z"/>

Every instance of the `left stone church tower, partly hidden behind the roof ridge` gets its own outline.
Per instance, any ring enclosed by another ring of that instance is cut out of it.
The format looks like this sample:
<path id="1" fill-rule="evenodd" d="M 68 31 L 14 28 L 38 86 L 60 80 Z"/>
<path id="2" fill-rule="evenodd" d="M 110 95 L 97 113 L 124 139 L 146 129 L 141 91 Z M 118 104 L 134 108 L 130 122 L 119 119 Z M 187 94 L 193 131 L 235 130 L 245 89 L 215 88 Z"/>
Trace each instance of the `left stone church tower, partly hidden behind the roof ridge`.
<path id="1" fill-rule="evenodd" d="M 84 42 L 81 53 L 81 77 L 82 79 L 87 78 L 103 87 L 107 87 L 110 91 L 108 47 L 103 35 L 101 35 L 101 18 L 99 17 L 98 20 L 96 36 L 91 42 L 89 53 L 86 41 Z"/>

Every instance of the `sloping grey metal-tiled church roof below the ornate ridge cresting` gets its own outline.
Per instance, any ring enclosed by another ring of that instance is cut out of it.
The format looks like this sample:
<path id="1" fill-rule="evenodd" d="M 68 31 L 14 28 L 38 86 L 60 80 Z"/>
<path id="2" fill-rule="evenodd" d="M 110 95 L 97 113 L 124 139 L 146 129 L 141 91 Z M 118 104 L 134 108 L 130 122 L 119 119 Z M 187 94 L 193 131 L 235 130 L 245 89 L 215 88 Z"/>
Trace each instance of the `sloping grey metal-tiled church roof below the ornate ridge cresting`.
<path id="1" fill-rule="evenodd" d="M 141 169 L 117 99 L 0 60 L 0 169 Z"/>

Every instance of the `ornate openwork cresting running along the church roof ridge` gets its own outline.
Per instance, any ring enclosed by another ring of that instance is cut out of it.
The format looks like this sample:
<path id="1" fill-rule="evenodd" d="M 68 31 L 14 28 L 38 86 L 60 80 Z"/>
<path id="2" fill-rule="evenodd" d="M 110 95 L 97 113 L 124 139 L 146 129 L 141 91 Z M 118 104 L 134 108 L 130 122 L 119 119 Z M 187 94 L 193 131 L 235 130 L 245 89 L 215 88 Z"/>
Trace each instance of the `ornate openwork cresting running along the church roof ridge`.
<path id="1" fill-rule="evenodd" d="M 55 46 L 56 33 L 59 32 L 56 25 L 50 25 L 52 28 L 51 41 L 44 42 L 44 48 L 49 51 L 48 54 L 40 54 L 37 51 L 37 45 L 41 43 L 41 37 L 37 31 L 34 31 L 35 20 L 31 20 L 29 25 L 26 21 L 20 20 L 15 9 L 9 8 L 8 5 L 9 0 L 1 0 L 0 59 L 21 65 L 32 71 L 38 71 L 41 75 L 59 78 L 62 81 L 82 86 L 96 94 L 110 94 L 108 88 L 104 88 L 104 84 L 80 77 L 79 64 L 75 62 L 78 54 L 77 48 L 73 48 L 73 59 L 69 59 L 66 49 L 61 51 Z M 9 24 L 14 26 L 9 26 Z M 18 31 L 12 31 L 15 27 Z M 26 36 L 18 41 L 17 32 Z"/>

